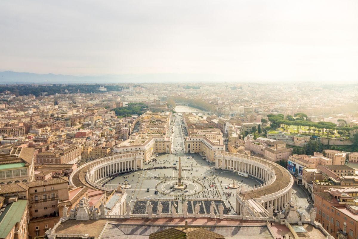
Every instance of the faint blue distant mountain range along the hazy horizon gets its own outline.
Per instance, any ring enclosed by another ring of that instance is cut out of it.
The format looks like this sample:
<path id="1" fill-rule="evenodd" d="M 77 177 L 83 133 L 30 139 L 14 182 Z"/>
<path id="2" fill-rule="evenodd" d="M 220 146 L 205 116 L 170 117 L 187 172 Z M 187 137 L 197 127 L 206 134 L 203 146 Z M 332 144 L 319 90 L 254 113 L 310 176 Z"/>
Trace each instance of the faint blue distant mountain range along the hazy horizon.
<path id="1" fill-rule="evenodd" d="M 126 75 L 103 75 L 103 76 L 70 76 L 70 75 L 54 75 L 49 74 L 37 74 L 29 72 L 14 72 L 3 71 L 0 72 L 0 84 L 27 84 L 27 83 L 149 83 L 149 82 L 216 82 L 234 79 L 228 79 L 219 75 L 212 74 L 126 74 Z"/>

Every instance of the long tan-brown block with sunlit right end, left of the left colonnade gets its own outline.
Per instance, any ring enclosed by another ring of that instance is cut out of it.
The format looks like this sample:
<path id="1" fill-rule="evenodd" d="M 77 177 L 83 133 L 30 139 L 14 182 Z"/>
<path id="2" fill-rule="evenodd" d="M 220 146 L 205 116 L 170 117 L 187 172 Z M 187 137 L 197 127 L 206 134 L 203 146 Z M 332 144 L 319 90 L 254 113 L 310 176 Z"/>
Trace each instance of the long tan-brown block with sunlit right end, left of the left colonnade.
<path id="1" fill-rule="evenodd" d="M 78 144 L 48 150 L 36 155 L 37 163 L 64 163 L 72 164 L 81 160 L 81 147 Z"/>

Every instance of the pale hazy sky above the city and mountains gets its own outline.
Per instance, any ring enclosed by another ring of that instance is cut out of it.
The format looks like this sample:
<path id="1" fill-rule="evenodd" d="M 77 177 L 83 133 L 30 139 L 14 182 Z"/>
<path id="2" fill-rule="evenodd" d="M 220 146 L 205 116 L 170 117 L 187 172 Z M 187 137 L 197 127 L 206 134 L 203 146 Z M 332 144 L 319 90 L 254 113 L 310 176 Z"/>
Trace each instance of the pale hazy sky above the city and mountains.
<path id="1" fill-rule="evenodd" d="M 0 70 L 358 82 L 358 1 L 0 1 Z"/>

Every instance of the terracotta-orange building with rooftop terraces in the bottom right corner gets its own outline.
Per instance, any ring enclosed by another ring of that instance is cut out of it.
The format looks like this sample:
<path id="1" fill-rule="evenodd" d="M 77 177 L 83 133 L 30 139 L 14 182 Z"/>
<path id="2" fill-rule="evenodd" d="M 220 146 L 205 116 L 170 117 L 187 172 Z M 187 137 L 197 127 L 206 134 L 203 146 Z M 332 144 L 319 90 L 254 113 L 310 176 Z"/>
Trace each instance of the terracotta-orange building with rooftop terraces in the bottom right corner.
<path id="1" fill-rule="evenodd" d="M 316 221 L 336 239 L 358 237 L 358 187 L 330 188 L 316 193 Z"/>

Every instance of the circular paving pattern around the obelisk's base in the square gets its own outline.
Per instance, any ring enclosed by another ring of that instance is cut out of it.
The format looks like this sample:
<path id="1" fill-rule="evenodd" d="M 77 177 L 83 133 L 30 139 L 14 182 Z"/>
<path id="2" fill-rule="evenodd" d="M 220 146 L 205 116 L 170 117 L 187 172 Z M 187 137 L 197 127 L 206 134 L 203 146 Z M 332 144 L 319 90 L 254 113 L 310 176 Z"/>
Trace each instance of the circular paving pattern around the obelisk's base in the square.
<path id="1" fill-rule="evenodd" d="M 188 196 L 203 191 L 203 185 L 201 183 L 189 180 L 182 180 L 182 183 L 185 185 L 183 189 L 175 189 L 175 185 L 178 184 L 178 180 L 160 182 L 156 185 L 156 190 L 164 195 L 170 196 Z"/>

